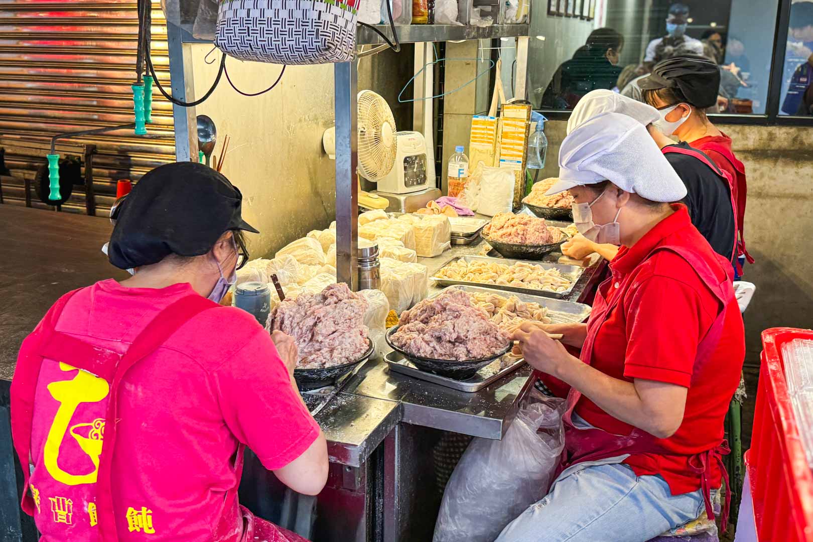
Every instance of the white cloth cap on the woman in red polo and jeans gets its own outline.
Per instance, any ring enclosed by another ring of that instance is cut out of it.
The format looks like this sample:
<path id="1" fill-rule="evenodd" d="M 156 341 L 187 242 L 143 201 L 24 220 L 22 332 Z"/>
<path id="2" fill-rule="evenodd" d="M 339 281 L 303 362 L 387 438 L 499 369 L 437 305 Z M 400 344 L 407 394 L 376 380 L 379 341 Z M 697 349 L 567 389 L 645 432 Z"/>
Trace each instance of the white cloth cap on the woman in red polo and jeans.
<path id="1" fill-rule="evenodd" d="M 559 182 L 546 196 L 610 180 L 652 202 L 678 202 L 686 186 L 644 125 L 620 113 L 602 113 L 580 124 L 559 148 Z"/>

